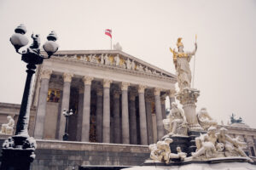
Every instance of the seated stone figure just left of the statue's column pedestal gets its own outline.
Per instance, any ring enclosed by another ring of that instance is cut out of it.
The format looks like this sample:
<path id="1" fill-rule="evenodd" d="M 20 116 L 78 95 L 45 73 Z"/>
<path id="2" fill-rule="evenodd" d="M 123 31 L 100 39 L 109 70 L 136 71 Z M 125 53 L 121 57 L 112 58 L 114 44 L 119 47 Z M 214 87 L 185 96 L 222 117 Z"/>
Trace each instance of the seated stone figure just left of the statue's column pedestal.
<path id="1" fill-rule="evenodd" d="M 164 127 L 169 132 L 164 138 L 171 137 L 174 134 L 187 135 L 187 121 L 183 110 L 177 107 L 175 102 L 172 102 L 172 110 L 170 114 L 163 120 Z"/>

